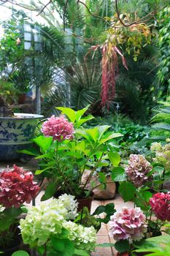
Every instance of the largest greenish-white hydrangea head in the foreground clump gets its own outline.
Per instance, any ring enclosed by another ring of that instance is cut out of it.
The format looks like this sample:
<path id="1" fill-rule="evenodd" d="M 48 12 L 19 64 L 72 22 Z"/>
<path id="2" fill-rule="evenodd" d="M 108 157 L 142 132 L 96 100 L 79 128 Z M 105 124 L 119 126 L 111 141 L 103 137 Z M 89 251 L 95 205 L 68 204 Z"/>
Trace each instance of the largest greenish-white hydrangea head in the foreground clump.
<path id="1" fill-rule="evenodd" d="M 66 208 L 57 199 L 28 208 L 26 219 L 20 220 L 24 243 L 42 246 L 51 234 L 61 233 L 66 214 Z"/>

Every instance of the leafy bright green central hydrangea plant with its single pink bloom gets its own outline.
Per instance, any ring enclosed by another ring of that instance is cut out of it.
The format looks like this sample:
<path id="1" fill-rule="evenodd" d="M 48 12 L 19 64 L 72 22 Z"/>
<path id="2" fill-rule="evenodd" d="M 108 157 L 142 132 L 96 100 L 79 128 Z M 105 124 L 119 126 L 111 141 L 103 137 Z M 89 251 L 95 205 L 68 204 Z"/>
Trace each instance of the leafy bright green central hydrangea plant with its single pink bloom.
<path id="1" fill-rule="evenodd" d="M 91 115 L 83 117 L 88 107 L 78 111 L 58 108 L 70 121 L 63 116 L 48 118 L 42 124 L 43 135 L 33 140 L 39 146 L 39 151 L 22 151 L 25 154 L 34 154 L 36 159 L 39 159 L 40 169 L 36 170 L 36 174 L 41 174 L 49 181 L 42 200 L 66 192 L 75 195 L 77 200 L 83 198 L 87 201 L 96 184 L 93 182 L 89 191 L 85 188 L 92 180 L 96 168 L 105 165 L 104 159 L 109 159 L 114 166 L 120 163 L 120 156 L 112 143 L 114 138 L 121 136 L 120 133 L 107 132 L 108 125 L 92 129 L 82 127 L 82 124 L 93 118 Z M 90 170 L 90 175 L 82 184 L 82 176 L 86 169 Z M 104 173 L 99 172 L 98 178 L 99 186 L 107 183 Z"/>

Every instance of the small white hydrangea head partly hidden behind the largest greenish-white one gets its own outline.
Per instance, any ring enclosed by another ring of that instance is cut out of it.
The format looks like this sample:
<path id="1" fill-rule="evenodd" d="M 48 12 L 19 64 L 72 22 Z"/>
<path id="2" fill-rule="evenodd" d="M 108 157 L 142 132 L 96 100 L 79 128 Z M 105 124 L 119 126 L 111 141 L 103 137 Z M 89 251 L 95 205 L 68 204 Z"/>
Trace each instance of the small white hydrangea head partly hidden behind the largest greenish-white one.
<path id="1" fill-rule="evenodd" d="M 60 197 L 58 197 L 58 200 L 60 200 L 63 203 L 63 206 L 68 211 L 67 218 L 66 219 L 75 219 L 77 217 L 77 207 L 78 203 L 77 200 L 74 199 L 74 195 L 67 195 L 63 194 Z"/>

